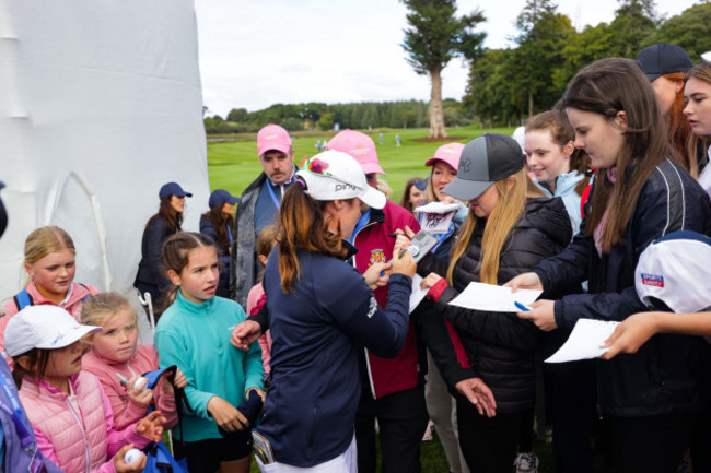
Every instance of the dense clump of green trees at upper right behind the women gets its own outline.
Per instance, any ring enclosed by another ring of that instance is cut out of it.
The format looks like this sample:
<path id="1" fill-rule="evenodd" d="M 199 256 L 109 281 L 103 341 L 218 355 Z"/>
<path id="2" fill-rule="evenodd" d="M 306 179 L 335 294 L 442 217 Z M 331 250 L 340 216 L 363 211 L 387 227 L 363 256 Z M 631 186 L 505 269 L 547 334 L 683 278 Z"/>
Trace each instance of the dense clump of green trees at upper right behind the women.
<path id="1" fill-rule="evenodd" d="M 482 123 L 513 125 L 550 109 L 584 66 L 607 57 L 634 58 L 646 46 L 671 43 L 695 62 L 711 50 L 711 3 L 663 19 L 653 0 L 620 0 L 610 23 L 576 32 L 549 0 L 528 0 L 516 19 L 513 48 L 489 49 L 474 60 L 463 106 Z"/>

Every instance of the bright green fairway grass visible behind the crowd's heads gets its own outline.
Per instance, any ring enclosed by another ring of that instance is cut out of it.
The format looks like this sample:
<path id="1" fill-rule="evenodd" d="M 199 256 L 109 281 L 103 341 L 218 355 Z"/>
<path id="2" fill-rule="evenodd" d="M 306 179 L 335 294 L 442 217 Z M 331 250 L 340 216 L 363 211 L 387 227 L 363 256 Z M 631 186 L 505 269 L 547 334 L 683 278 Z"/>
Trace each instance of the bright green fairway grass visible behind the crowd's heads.
<path id="1" fill-rule="evenodd" d="M 483 132 L 504 133 L 511 135 L 514 128 L 493 128 L 481 130 L 479 126 L 452 128 L 447 130 L 451 137 L 462 137 L 461 141 L 466 143 Z M 411 130 L 383 129 L 383 144 L 380 144 L 378 133 L 381 130 L 365 131 L 373 138 L 377 147 L 377 156 L 387 176 L 385 180 L 393 188 L 392 200 L 399 201 L 405 181 L 413 176 L 427 177 L 429 168 L 424 162 L 432 157 L 434 151 L 446 142 L 422 143 L 413 139 L 426 138 L 428 130 L 423 128 Z M 313 156 L 317 153 L 316 141 L 330 140 L 336 132 L 296 132 L 293 133 L 294 152 L 296 164 L 304 156 Z M 403 145 L 395 145 L 395 135 L 399 134 Z M 238 141 L 213 142 L 208 144 L 208 173 L 210 175 L 211 189 L 226 189 L 235 196 L 252 182 L 261 170 L 257 159 L 256 134 L 237 135 Z"/>

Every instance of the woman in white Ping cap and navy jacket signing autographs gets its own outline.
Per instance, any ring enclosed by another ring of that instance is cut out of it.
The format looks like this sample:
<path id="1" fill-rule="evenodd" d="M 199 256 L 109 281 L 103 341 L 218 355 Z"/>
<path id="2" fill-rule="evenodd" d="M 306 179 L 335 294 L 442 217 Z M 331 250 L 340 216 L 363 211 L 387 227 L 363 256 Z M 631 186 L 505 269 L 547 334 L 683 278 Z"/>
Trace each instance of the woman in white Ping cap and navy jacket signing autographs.
<path id="1" fill-rule="evenodd" d="M 257 431 L 276 460 L 265 465 L 258 457 L 265 472 L 354 472 L 359 353 L 365 346 L 393 357 L 405 340 L 416 264 L 409 253 L 395 255 L 389 298 L 380 309 L 363 275 L 345 261 L 354 249 L 342 238 L 356 228 L 361 203 L 382 209 L 385 196 L 337 151 L 314 156 L 284 193 L 264 274 L 272 385 Z M 373 265 L 375 279 L 381 270 Z"/>

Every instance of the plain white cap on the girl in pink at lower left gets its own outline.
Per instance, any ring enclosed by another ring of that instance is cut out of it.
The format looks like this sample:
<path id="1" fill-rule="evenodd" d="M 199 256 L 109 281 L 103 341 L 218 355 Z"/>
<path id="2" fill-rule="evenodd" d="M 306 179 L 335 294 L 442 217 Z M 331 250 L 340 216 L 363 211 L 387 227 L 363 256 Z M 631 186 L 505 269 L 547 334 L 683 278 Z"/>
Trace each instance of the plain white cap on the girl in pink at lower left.
<path id="1" fill-rule="evenodd" d="M 101 327 L 82 326 L 57 306 L 30 306 L 20 310 L 5 327 L 5 352 L 22 355 L 32 348 L 63 348 Z"/>

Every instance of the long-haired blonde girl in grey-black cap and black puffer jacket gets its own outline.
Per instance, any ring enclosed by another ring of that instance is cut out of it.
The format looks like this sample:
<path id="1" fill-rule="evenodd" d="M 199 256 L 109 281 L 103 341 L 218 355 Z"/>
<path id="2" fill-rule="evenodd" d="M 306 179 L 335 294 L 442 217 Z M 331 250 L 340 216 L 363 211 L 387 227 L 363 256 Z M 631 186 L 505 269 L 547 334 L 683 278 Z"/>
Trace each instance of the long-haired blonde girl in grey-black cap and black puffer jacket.
<path id="1" fill-rule="evenodd" d="M 529 184 L 521 147 L 512 138 L 485 134 L 471 140 L 462 151 L 456 178 L 443 189 L 469 202 L 451 261 L 428 255 L 418 264 L 418 273 L 426 275 L 422 287 L 456 329 L 474 371 L 493 391 L 492 417 L 457 400 L 459 446 L 477 473 L 511 471 L 521 434 L 531 428 L 526 419 L 535 401 L 539 332 L 513 312 L 448 303 L 470 282 L 503 283 L 568 245 L 571 226 L 562 201 L 538 199 L 543 192 Z M 406 245 L 409 239 L 398 237 L 397 247 Z"/>

